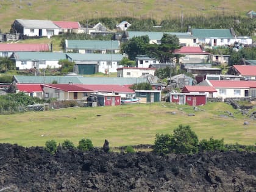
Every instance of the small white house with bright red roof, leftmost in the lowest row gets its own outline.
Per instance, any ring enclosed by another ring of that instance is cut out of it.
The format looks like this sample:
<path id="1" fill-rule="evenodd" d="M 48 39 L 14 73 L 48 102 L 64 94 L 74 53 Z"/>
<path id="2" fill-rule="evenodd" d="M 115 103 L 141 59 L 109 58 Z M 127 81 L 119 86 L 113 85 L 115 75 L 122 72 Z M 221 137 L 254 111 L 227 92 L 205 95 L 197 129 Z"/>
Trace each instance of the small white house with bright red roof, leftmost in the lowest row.
<path id="1" fill-rule="evenodd" d="M 17 88 L 16 92 L 24 92 L 35 98 L 44 98 L 41 84 L 15 84 L 15 86 Z"/>

